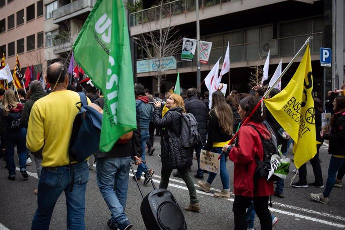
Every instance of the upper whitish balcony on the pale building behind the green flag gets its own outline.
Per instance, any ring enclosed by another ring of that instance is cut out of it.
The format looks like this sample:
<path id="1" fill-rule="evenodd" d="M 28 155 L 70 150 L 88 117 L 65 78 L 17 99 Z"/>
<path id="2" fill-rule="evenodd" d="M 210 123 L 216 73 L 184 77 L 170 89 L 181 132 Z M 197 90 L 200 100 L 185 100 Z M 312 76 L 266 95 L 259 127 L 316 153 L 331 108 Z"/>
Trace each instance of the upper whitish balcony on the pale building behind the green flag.
<path id="1" fill-rule="evenodd" d="M 97 0 L 76 0 L 53 11 L 54 24 L 70 18 L 86 20 Z"/>

